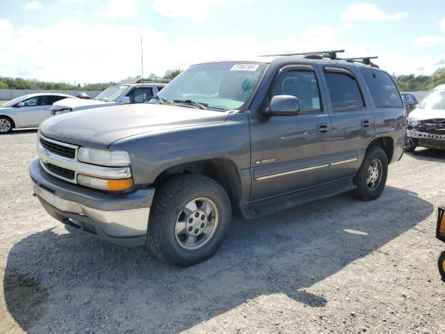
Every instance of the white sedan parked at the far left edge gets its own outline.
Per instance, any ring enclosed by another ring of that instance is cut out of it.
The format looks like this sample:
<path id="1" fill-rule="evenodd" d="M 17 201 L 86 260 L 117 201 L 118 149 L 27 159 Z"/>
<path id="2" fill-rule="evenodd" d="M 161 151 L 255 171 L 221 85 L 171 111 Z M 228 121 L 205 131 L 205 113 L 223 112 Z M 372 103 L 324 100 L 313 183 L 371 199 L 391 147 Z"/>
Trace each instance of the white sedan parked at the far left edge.
<path id="1" fill-rule="evenodd" d="M 0 134 L 7 134 L 14 128 L 19 127 L 38 127 L 41 122 L 51 117 L 49 109 L 53 103 L 67 97 L 74 96 L 56 93 L 35 93 L 23 95 L 1 104 Z"/>

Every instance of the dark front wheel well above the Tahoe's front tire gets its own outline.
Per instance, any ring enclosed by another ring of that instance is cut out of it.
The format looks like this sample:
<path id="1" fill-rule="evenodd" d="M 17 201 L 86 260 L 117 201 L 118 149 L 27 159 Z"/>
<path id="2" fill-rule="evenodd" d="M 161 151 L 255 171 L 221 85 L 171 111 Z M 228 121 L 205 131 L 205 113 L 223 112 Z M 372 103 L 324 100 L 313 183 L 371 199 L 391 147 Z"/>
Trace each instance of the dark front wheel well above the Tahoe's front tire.
<path id="1" fill-rule="evenodd" d="M 241 177 L 236 164 L 230 159 L 205 159 L 169 167 L 159 173 L 154 180 L 154 185 L 161 186 L 170 178 L 184 174 L 210 177 L 227 191 L 232 207 L 237 207 L 241 202 Z"/>

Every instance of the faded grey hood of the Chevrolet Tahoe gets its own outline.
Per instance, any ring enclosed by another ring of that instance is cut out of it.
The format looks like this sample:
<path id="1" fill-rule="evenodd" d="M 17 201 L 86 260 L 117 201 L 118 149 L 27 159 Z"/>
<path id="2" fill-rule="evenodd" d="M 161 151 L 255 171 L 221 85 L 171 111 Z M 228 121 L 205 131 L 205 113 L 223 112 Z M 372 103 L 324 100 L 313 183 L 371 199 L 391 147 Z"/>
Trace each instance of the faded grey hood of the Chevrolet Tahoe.
<path id="1" fill-rule="evenodd" d="M 39 132 L 56 141 L 108 148 L 128 136 L 225 122 L 228 115 L 163 104 L 125 104 L 51 117 L 40 124 Z"/>

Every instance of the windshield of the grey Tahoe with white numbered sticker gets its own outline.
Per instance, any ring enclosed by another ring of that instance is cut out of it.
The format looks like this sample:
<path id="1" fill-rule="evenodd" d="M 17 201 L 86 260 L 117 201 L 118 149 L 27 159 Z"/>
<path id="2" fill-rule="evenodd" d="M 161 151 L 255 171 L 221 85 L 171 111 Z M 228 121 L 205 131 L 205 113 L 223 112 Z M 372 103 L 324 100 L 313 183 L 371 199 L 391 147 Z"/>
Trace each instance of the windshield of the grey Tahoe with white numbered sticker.
<path id="1" fill-rule="evenodd" d="M 178 104 L 197 102 L 213 110 L 244 111 L 266 67 L 261 63 L 194 65 L 165 86 L 158 96 Z"/>

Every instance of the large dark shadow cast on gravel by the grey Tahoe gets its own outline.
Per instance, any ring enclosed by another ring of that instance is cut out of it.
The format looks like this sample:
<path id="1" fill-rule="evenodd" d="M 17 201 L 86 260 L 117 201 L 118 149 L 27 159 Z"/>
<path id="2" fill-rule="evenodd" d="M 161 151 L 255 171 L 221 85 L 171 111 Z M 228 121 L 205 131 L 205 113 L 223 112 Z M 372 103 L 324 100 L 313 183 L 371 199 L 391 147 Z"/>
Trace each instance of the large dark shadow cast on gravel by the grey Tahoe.
<path id="1" fill-rule="evenodd" d="M 277 216 L 235 219 L 219 252 L 186 269 L 161 263 L 145 247 L 44 230 L 10 250 L 4 298 L 10 315 L 31 333 L 177 333 L 246 299 L 275 293 L 323 307 L 330 301 L 306 287 L 432 211 L 415 193 L 387 186 L 373 202 L 345 194 Z"/>

